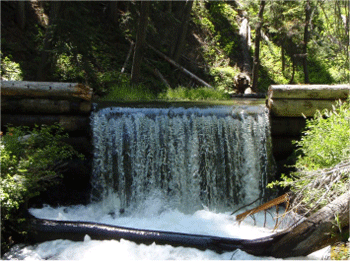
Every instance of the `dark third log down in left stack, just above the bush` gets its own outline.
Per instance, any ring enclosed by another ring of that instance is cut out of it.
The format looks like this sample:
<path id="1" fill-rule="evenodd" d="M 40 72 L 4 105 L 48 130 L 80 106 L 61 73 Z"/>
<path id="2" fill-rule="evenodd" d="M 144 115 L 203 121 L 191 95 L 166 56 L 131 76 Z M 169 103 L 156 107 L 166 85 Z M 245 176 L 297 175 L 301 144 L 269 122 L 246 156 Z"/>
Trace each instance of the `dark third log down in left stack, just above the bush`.
<path id="1" fill-rule="evenodd" d="M 88 116 L 70 116 L 70 115 L 25 115 L 25 114 L 2 114 L 1 127 L 5 126 L 29 126 L 35 125 L 53 125 L 59 123 L 65 131 L 89 133 L 90 120 Z"/>

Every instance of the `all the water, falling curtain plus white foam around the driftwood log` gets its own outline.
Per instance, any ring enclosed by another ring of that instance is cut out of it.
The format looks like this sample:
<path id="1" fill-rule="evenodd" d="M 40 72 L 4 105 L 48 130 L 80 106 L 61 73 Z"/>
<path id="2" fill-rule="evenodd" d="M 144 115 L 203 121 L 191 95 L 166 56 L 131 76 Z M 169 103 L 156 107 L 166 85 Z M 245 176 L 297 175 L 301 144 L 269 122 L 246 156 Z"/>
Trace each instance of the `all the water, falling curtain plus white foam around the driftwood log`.
<path id="1" fill-rule="evenodd" d="M 273 233 L 275 221 L 269 215 L 267 222 L 258 213 L 255 220 L 241 224 L 230 215 L 240 205 L 267 196 L 273 164 L 264 107 L 106 108 L 93 113 L 92 132 L 92 203 L 31 209 L 34 216 L 246 239 Z M 264 223 L 270 229 L 262 228 Z M 127 240 L 97 241 L 88 235 L 82 242 L 16 245 L 3 258 L 261 259 L 240 250 L 218 254 Z"/>

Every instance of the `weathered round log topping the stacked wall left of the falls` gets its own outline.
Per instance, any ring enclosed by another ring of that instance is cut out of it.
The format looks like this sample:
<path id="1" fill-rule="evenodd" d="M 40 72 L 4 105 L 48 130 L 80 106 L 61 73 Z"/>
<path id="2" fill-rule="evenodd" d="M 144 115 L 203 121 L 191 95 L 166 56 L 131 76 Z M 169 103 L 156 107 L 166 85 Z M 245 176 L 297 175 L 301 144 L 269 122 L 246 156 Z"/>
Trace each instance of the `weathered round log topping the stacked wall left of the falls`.
<path id="1" fill-rule="evenodd" d="M 92 89 L 81 83 L 1 81 L 1 95 L 91 101 Z"/>

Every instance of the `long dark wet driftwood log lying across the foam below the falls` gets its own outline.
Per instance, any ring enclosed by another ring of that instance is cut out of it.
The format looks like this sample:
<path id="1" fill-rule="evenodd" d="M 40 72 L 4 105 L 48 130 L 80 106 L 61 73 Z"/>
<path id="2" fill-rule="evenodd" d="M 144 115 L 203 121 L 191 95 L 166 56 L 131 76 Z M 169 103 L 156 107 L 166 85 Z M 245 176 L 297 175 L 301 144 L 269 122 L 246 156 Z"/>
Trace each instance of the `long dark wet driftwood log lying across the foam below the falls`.
<path id="1" fill-rule="evenodd" d="M 169 244 L 201 250 L 211 249 L 216 252 L 241 249 L 256 256 L 296 257 L 306 256 L 339 241 L 342 232 L 349 229 L 349 203 L 350 192 L 347 192 L 299 224 L 285 231 L 253 240 L 133 229 L 89 222 L 53 221 L 34 217 L 30 219 L 28 235 L 33 242 L 54 239 L 82 241 L 88 234 L 96 240 L 123 238 L 142 244 Z"/>

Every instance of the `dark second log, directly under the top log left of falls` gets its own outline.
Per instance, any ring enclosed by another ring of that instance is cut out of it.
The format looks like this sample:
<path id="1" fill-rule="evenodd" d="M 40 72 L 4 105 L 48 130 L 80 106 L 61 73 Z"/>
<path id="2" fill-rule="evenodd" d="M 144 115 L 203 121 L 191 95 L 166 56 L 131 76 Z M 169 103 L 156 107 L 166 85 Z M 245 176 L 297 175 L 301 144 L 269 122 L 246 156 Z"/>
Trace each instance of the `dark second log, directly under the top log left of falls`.
<path id="1" fill-rule="evenodd" d="M 1 97 L 1 112 L 15 114 L 88 114 L 90 101 L 8 99 Z"/>

